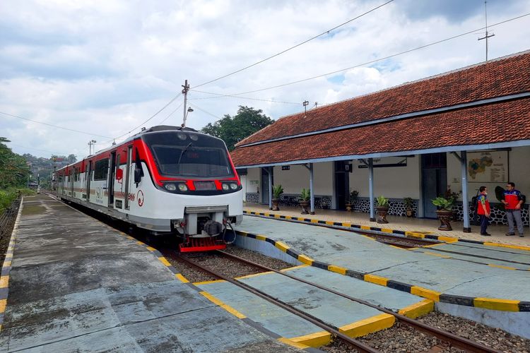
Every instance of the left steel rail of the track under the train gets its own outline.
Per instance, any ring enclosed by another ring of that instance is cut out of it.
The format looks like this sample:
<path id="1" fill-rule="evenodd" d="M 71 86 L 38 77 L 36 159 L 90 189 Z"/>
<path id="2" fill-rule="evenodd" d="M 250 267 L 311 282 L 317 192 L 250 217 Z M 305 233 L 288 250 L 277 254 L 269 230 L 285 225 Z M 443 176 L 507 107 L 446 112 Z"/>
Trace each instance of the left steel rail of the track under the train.
<path id="1" fill-rule="evenodd" d="M 172 254 L 172 256 L 175 258 L 175 255 Z M 240 287 L 242 289 L 245 289 L 252 294 L 256 294 L 258 297 L 261 297 L 262 299 L 265 299 L 266 301 L 269 301 L 272 304 L 275 304 L 276 306 L 281 307 L 282 309 L 285 309 L 289 311 L 290 313 L 295 314 L 296 316 L 300 316 L 300 318 L 303 318 L 306 321 L 309 321 L 310 323 L 319 326 L 319 328 L 322 328 L 323 330 L 326 330 L 327 332 L 335 335 L 336 337 L 340 338 L 341 340 L 348 342 L 350 345 L 353 345 L 355 349 L 358 349 L 359 352 L 367 352 L 367 353 L 377 353 L 376 349 L 373 349 L 370 346 L 365 345 L 362 342 L 359 342 L 358 340 L 354 340 L 353 338 L 344 335 L 339 330 L 336 330 L 335 328 L 331 327 L 330 325 L 326 325 L 325 323 L 322 323 L 322 321 L 319 321 L 319 319 L 315 318 L 314 316 L 311 316 L 310 314 L 304 313 L 303 311 L 300 311 L 296 309 L 293 306 L 290 306 L 289 304 L 284 303 L 283 301 L 280 301 L 278 299 L 275 299 L 268 294 L 261 292 L 259 289 L 255 289 L 254 287 L 251 287 L 243 282 L 240 282 L 238 280 L 234 280 L 230 277 L 227 277 L 225 275 L 221 275 L 220 273 L 217 273 L 216 271 L 213 271 L 211 269 L 205 268 L 202 265 L 199 265 L 199 263 L 196 263 L 195 261 L 190 260 L 187 258 L 187 256 L 178 256 L 179 259 L 182 261 L 185 261 L 189 263 L 190 265 L 193 265 L 196 268 L 199 268 L 200 270 L 209 273 L 210 275 L 213 275 L 215 277 L 220 278 L 221 280 L 225 280 L 227 282 L 232 283 L 232 285 L 237 285 L 237 287 Z"/>

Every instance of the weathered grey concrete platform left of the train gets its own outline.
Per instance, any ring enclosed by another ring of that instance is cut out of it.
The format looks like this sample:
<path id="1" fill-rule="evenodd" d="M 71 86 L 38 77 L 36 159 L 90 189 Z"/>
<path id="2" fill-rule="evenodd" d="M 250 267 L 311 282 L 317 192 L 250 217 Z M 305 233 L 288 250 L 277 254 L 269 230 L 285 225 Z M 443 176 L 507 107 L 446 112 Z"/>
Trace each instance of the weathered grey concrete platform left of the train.
<path id="1" fill-rule="evenodd" d="M 53 198 L 24 198 L 13 240 L 1 352 L 298 351 L 199 293 L 158 251 Z"/>

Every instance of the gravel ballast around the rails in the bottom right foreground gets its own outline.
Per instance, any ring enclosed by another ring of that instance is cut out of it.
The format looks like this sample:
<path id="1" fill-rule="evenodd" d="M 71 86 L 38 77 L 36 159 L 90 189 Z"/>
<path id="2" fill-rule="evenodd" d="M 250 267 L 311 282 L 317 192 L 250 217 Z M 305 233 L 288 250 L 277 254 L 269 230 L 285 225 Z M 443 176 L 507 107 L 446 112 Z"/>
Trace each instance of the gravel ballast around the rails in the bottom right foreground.
<path id="1" fill-rule="evenodd" d="M 498 328 L 490 328 L 457 316 L 432 312 L 423 316 L 423 318 L 419 318 L 419 321 L 466 337 L 469 340 L 482 343 L 485 346 L 499 349 L 502 352 L 530 352 L 530 340 L 525 340 L 522 337 L 511 335 Z M 447 345 L 440 342 L 436 337 L 432 337 L 401 323 L 396 323 L 392 328 L 387 330 L 360 337 L 358 340 L 381 352 L 425 352 L 436 345 L 438 347 L 446 347 L 440 349 L 438 352 L 464 352 L 461 349 L 447 347 Z M 355 349 L 351 349 L 340 340 L 336 340 L 331 345 L 321 347 L 320 349 L 333 353 L 356 352 Z"/>

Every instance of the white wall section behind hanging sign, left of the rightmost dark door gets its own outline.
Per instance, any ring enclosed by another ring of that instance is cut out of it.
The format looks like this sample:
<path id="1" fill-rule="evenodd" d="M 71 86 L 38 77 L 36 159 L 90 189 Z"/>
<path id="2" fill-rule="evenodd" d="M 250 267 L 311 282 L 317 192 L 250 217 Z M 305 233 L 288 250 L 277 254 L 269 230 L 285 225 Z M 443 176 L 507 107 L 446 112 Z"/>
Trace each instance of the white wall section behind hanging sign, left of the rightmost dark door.
<path id="1" fill-rule="evenodd" d="M 386 198 L 420 198 L 420 156 L 408 157 L 406 167 L 374 168 L 374 196 Z M 384 163 L 384 158 L 381 159 Z M 394 159 L 395 160 L 395 159 Z M 360 197 L 369 197 L 368 168 L 359 168 L 362 162 L 354 160 L 350 173 L 350 189 Z"/>

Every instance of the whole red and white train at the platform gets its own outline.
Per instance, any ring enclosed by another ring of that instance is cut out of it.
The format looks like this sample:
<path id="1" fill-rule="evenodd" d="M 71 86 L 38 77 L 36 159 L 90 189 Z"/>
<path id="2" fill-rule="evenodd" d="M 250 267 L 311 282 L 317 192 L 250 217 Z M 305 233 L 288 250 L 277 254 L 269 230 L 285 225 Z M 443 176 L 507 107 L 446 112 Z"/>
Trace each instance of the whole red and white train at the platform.
<path id="1" fill-rule="evenodd" d="M 242 221 L 242 186 L 223 140 L 154 126 L 56 172 L 60 198 L 147 229 L 176 234 L 181 251 L 223 249 Z"/>

